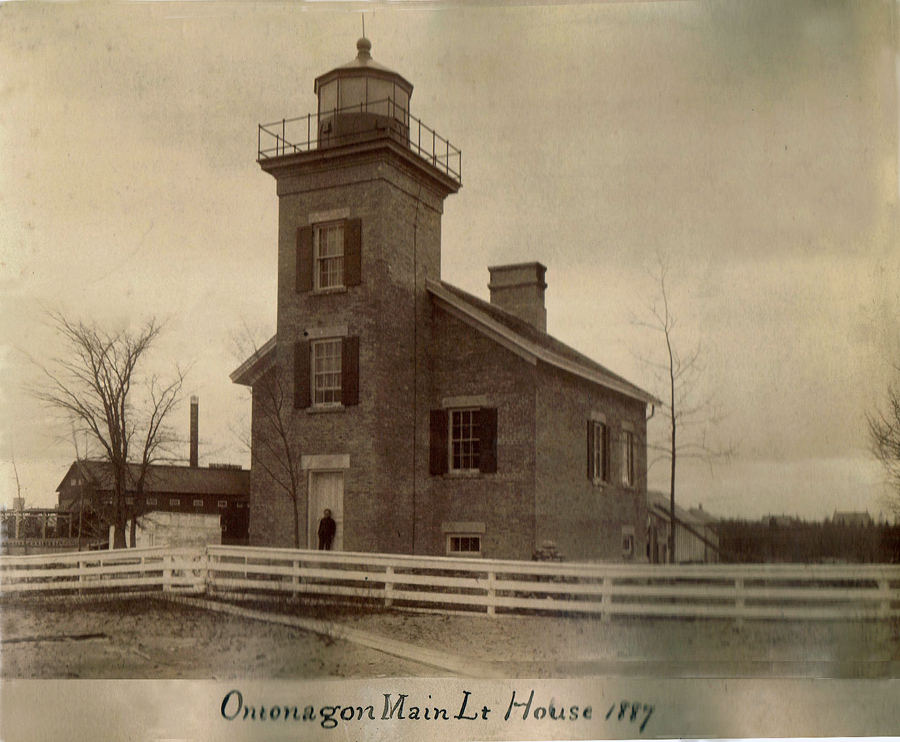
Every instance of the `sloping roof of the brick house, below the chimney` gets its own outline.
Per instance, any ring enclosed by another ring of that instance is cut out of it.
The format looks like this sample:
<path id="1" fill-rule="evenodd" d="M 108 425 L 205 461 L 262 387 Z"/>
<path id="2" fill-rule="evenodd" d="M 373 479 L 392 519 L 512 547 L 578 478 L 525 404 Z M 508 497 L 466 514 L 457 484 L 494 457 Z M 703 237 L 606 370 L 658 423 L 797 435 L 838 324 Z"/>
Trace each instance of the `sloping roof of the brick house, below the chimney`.
<path id="1" fill-rule="evenodd" d="M 494 304 L 446 281 L 428 280 L 426 287 L 443 309 L 530 363 L 542 361 L 645 404 L 661 404 L 649 392 Z"/>

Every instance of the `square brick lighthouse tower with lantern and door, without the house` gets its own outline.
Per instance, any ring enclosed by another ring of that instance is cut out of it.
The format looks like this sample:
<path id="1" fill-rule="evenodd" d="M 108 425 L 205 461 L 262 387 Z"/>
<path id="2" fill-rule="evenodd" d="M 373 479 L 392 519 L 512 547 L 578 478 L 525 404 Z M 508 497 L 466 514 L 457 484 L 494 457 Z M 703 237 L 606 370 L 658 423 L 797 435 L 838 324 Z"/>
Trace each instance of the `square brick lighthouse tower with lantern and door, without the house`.
<path id="1" fill-rule="evenodd" d="M 412 116 L 412 84 L 372 59 L 369 40 L 356 48 L 315 80 L 315 113 L 259 128 L 279 203 L 277 330 L 235 380 L 254 387 L 255 462 L 278 455 L 263 442 L 277 432 L 257 414 L 259 379 L 277 374 L 289 391 L 301 547 L 316 548 L 327 508 L 334 548 L 413 553 L 428 456 L 426 280 L 440 280 L 461 155 Z M 270 463 L 253 465 L 251 543 L 293 546 L 295 505 Z"/>

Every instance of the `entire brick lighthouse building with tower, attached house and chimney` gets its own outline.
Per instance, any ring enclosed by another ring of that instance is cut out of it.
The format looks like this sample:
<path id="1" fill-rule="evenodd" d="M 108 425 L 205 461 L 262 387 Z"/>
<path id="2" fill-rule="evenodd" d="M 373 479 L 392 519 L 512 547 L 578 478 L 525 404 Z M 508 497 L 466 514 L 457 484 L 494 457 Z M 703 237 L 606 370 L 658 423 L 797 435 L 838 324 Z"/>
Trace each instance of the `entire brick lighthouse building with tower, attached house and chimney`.
<path id="1" fill-rule="evenodd" d="M 231 375 L 253 393 L 250 543 L 294 543 L 283 434 L 301 547 L 327 507 L 338 549 L 528 559 L 554 541 L 567 559 L 643 558 L 654 398 L 546 333 L 540 263 L 490 268 L 490 302 L 441 280 L 461 156 L 370 48 L 316 80 L 318 112 L 293 133 L 260 127 L 277 327 Z"/>

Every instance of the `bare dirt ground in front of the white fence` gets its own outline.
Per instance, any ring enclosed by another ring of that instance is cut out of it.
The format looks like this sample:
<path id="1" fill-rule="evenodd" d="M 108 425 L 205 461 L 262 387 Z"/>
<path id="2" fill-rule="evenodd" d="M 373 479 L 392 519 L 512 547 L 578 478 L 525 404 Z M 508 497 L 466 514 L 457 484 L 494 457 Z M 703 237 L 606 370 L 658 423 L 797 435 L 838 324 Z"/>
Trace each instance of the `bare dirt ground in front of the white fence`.
<path id="1" fill-rule="evenodd" d="M 321 616 L 319 616 L 321 618 Z M 900 677 L 897 622 L 350 614 L 330 620 L 496 663 L 506 677 Z M 153 598 L 4 602 L 0 676 L 315 679 L 447 676 L 296 628 Z"/>

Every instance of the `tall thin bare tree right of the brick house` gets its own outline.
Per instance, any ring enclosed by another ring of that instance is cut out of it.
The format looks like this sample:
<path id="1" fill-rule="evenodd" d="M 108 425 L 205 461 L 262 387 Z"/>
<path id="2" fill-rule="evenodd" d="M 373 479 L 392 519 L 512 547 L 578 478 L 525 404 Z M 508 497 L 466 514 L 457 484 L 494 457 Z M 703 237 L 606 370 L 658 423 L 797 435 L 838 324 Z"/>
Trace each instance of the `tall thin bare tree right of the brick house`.
<path id="1" fill-rule="evenodd" d="M 658 294 L 649 305 L 649 319 L 635 324 L 649 328 L 662 336 L 665 354 L 662 361 L 643 358 L 655 377 L 657 395 L 663 400 L 662 411 L 668 425 L 666 441 L 648 442 L 654 453 L 649 466 L 660 461 L 669 462 L 669 561 L 675 561 L 675 474 L 680 459 L 701 460 L 712 466 L 734 454 L 734 446 L 722 446 L 707 440 L 707 430 L 722 420 L 714 394 L 704 395 L 701 381 L 704 376 L 702 344 L 697 341 L 682 348 L 676 329 L 678 320 L 669 296 L 669 263 L 657 254 L 652 273 Z"/>

